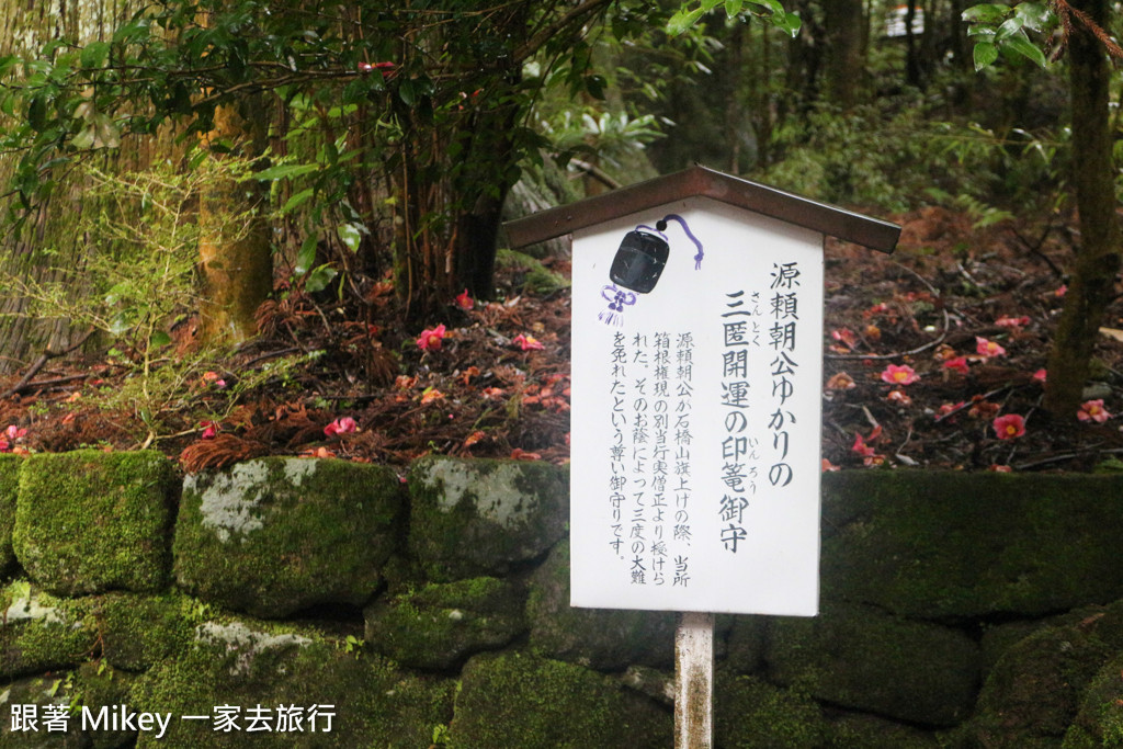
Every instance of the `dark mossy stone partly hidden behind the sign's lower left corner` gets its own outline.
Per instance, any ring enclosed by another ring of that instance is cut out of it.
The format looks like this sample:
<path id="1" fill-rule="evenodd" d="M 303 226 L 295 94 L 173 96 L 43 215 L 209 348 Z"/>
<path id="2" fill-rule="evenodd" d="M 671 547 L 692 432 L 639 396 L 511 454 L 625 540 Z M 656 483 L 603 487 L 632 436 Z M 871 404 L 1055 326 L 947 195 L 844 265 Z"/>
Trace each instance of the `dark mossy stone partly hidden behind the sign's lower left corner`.
<path id="1" fill-rule="evenodd" d="M 527 619 L 531 647 L 551 658 L 601 670 L 674 664 L 676 614 L 569 605 L 568 541 L 558 544 L 531 576 Z"/>

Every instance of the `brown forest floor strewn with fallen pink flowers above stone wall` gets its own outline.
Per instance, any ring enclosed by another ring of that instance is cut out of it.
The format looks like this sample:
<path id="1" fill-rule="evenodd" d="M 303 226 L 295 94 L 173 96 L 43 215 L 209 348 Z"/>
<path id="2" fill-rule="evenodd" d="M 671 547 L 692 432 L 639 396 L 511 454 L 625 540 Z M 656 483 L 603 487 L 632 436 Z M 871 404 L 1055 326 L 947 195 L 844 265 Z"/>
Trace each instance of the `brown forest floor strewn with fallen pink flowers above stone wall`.
<path id="1" fill-rule="evenodd" d="M 1123 307 L 1097 347 L 1092 418 L 1040 408 L 1072 231 L 975 229 L 942 209 L 892 218 L 903 226 L 893 255 L 827 243 L 824 468 L 1123 468 L 1123 419 L 1110 415 L 1123 412 Z M 568 274 L 564 258 L 544 265 Z M 290 290 L 262 309 L 263 334 L 235 356 L 206 371 L 165 365 L 175 376 L 153 390 L 177 390 L 153 400 L 147 423 L 143 399 L 121 396 L 139 392 L 135 365 L 52 360 L 28 382 L 0 378 L 0 450 L 152 446 L 188 471 L 259 455 L 564 463 L 569 293 L 531 291 L 541 272 L 502 267 L 502 301 L 451 301 L 423 348 L 421 331 L 395 328 L 386 282 L 365 283 L 360 310 Z M 995 419 L 1012 414 L 1022 421 L 999 435 Z"/>

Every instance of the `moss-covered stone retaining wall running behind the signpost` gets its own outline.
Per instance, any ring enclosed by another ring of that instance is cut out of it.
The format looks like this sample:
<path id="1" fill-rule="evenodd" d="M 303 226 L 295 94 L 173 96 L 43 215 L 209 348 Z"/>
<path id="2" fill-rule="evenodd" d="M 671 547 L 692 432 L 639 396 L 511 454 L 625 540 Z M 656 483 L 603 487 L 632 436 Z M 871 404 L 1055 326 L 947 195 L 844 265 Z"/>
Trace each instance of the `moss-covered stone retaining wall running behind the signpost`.
<path id="1" fill-rule="evenodd" d="M 669 747 L 675 615 L 572 609 L 567 523 L 539 463 L 0 456 L 0 747 Z M 1123 746 L 1121 537 L 1121 478 L 824 475 L 821 614 L 718 618 L 716 746 Z"/>

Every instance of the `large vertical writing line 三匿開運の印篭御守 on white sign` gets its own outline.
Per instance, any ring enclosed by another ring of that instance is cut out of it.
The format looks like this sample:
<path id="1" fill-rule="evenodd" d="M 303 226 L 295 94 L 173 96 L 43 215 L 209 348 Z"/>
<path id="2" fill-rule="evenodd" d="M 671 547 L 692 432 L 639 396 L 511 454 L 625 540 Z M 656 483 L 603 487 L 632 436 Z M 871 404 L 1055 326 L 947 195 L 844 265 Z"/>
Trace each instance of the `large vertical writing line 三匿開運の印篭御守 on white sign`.
<path id="1" fill-rule="evenodd" d="M 760 293 L 738 290 L 725 294 L 721 322 L 721 407 L 724 412 L 721 441 L 721 483 L 718 505 L 721 544 L 737 554 L 748 536 L 745 511 L 757 491 L 758 440 L 749 429 L 749 362 L 760 347 Z M 748 431 L 749 433 L 746 433 Z"/>

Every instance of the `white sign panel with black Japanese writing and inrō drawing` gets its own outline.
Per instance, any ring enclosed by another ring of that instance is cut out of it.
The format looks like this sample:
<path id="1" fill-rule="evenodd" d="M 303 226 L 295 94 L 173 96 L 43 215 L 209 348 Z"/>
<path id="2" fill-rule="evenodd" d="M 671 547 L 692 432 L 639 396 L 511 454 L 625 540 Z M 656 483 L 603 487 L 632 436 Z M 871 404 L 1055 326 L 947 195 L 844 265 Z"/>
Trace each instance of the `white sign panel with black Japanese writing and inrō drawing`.
<path id="1" fill-rule="evenodd" d="M 822 287 L 705 198 L 575 232 L 574 606 L 818 612 Z"/>

